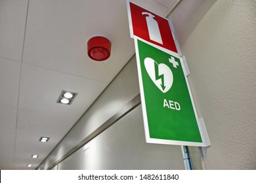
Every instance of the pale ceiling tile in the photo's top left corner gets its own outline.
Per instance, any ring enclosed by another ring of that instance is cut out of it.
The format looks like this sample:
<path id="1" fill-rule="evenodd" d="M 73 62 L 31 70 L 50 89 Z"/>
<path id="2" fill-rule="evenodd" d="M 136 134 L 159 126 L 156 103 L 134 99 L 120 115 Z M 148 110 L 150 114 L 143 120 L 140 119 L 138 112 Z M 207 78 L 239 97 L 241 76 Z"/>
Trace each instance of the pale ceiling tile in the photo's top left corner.
<path id="1" fill-rule="evenodd" d="M 0 1 L 0 57 L 22 60 L 28 0 Z"/>

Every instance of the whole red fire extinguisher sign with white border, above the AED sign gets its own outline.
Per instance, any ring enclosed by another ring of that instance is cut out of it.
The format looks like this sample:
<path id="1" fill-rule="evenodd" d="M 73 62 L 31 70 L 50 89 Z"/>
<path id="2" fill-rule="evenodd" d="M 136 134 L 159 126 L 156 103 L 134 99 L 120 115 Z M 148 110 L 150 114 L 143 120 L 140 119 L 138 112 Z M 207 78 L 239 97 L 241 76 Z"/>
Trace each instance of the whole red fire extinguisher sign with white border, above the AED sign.
<path id="1" fill-rule="evenodd" d="M 129 2 L 129 7 L 132 35 L 177 53 L 169 20 L 131 2 Z"/>

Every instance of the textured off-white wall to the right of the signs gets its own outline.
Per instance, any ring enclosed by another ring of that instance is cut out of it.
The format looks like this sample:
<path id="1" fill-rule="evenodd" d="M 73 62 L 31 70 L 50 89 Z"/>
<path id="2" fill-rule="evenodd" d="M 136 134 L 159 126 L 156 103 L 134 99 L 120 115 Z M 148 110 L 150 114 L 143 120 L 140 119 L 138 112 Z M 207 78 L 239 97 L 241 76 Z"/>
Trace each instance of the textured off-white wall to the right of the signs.
<path id="1" fill-rule="evenodd" d="M 179 37 L 178 37 L 179 38 Z M 256 1 L 217 1 L 182 44 L 207 169 L 256 169 Z"/>

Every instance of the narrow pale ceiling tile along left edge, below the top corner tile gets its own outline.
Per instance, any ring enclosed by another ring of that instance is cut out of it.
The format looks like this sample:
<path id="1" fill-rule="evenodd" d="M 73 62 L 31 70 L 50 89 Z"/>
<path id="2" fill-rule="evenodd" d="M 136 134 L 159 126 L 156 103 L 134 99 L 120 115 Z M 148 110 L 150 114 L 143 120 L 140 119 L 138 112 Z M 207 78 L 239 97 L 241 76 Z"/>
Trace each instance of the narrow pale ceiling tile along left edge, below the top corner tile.
<path id="1" fill-rule="evenodd" d="M 0 169 L 12 169 L 20 63 L 0 58 Z"/>

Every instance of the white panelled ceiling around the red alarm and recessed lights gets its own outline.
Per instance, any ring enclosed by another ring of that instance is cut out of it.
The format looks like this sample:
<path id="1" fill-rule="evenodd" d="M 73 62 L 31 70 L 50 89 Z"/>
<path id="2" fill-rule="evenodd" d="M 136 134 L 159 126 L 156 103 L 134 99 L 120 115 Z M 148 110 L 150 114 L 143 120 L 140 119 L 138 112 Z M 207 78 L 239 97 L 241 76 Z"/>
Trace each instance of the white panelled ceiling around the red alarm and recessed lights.
<path id="1" fill-rule="evenodd" d="M 179 0 L 134 2 L 166 16 Z M 125 0 L 0 0 L 0 169 L 35 169 L 53 150 L 135 54 L 128 25 Z M 87 56 L 95 35 L 112 42 L 107 61 Z M 72 105 L 56 103 L 62 90 Z"/>

